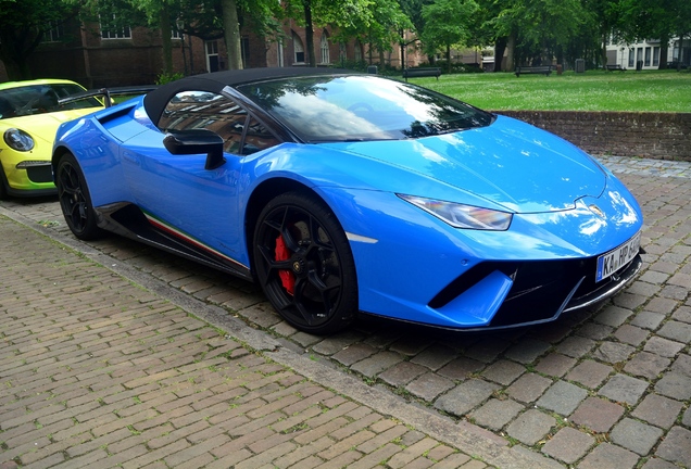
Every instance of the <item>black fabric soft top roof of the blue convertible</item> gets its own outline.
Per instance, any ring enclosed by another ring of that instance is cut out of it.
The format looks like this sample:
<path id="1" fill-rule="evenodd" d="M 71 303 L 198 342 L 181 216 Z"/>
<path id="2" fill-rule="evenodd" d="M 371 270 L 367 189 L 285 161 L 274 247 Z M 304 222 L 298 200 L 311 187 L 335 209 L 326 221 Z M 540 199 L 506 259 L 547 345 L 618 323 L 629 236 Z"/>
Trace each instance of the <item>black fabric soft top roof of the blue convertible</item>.
<path id="1" fill-rule="evenodd" d="M 276 78 L 289 78 L 296 76 L 313 75 L 343 75 L 353 74 L 353 71 L 340 68 L 317 67 L 272 67 L 247 68 L 241 71 L 213 72 L 201 75 L 192 75 L 176 81 L 171 81 L 151 91 L 145 97 L 143 105 L 152 122 L 159 122 L 163 110 L 171 99 L 183 91 L 209 91 L 219 93 L 225 87 L 237 87 L 253 81 L 263 81 Z"/>

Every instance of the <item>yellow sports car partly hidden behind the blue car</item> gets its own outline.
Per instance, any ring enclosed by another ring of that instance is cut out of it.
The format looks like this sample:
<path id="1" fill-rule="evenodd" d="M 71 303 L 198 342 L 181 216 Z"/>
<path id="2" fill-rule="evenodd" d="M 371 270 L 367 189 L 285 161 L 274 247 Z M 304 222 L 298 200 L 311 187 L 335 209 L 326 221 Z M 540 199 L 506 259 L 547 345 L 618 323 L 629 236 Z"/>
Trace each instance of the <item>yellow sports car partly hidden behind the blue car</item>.
<path id="1" fill-rule="evenodd" d="M 83 91 L 64 79 L 0 84 L 0 199 L 56 193 L 50 157 L 58 126 L 103 107 L 92 97 L 58 102 Z"/>

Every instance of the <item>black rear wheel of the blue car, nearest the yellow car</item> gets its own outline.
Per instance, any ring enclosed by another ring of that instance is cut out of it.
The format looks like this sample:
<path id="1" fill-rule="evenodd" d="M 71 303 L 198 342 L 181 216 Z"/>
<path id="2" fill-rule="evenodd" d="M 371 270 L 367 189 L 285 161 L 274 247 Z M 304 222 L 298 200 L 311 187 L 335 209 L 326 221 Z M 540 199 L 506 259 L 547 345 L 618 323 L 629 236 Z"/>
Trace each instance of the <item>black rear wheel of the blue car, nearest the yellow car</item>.
<path id="1" fill-rule="evenodd" d="M 58 163 L 55 186 L 62 214 L 72 233 L 85 241 L 102 237 L 104 231 L 97 226 L 96 212 L 84 173 L 70 153 Z"/>

